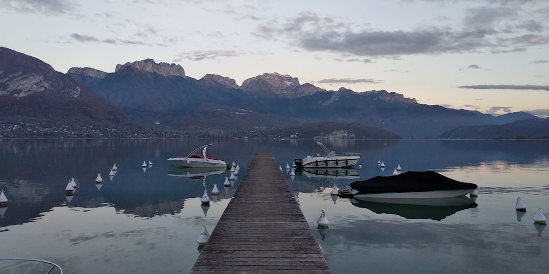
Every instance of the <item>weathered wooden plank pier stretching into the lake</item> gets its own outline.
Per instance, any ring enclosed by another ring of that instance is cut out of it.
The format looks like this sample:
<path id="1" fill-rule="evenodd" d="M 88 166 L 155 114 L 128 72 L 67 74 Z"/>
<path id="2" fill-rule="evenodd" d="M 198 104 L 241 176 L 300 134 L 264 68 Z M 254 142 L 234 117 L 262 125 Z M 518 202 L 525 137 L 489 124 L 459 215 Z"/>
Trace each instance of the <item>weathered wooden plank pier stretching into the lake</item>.
<path id="1" fill-rule="evenodd" d="M 332 273 L 271 153 L 257 153 L 191 273 Z"/>

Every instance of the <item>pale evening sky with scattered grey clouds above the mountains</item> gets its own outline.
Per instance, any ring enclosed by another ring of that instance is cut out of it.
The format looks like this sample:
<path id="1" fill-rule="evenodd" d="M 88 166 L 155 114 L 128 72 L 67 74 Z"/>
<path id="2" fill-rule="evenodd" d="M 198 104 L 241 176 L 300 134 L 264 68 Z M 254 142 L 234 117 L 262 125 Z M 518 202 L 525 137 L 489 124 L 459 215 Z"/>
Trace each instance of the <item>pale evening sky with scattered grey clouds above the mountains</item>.
<path id="1" fill-rule="evenodd" d="M 152 58 L 549 116 L 548 0 L 0 0 L 0 46 L 66 73 Z"/>

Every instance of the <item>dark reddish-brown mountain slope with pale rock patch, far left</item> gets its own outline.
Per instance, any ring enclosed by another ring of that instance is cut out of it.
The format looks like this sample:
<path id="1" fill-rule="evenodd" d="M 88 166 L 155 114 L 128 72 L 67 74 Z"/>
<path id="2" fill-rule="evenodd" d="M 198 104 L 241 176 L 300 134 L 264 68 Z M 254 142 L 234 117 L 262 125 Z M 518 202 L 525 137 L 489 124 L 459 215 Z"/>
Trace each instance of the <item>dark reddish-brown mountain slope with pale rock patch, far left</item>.
<path id="1" fill-rule="evenodd" d="M 0 117 L 66 125 L 116 125 L 131 118 L 71 77 L 32 56 L 0 47 Z"/>

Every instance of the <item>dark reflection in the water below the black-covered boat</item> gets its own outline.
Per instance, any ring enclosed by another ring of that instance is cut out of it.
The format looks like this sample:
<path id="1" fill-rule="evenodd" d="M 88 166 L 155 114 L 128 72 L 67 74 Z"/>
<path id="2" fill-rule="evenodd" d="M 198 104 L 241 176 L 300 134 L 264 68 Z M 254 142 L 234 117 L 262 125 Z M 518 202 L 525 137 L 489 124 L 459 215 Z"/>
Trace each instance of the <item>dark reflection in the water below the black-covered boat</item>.
<path id="1" fill-rule="evenodd" d="M 377 214 L 395 214 L 406 219 L 432 219 L 440 221 L 458 211 L 478 206 L 466 196 L 426 199 L 368 199 L 350 198 L 355 207 L 367 208 Z"/>

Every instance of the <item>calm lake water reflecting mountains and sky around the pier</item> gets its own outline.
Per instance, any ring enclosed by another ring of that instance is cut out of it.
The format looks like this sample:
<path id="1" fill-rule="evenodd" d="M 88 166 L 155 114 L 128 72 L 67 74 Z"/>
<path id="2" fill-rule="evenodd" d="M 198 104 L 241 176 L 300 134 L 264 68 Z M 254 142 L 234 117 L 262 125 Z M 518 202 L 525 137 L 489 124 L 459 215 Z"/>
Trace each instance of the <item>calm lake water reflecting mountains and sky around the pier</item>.
<path id="1" fill-rule="evenodd" d="M 362 153 L 358 175 L 284 174 L 334 273 L 549 273 L 549 229 L 533 220 L 540 207 L 549 216 L 549 141 L 323 142 Z M 240 175 L 227 189 L 228 171 L 208 176 L 206 189 L 217 184 L 221 193 L 201 207 L 201 174 L 173 171 L 166 159 L 209 143 L 209 154 L 239 164 Z M 0 208 L 0 258 L 53 261 L 65 273 L 188 273 L 203 225 L 214 230 L 262 151 L 282 167 L 323 154 L 313 140 L 0 140 L 0 189 L 9 199 Z M 479 196 L 445 207 L 330 196 L 334 185 L 391 175 L 398 164 L 402 172 L 435 170 L 472 182 Z M 72 177 L 78 189 L 66 197 Z M 515 210 L 517 197 L 528 207 L 524 215 Z M 327 229 L 316 224 L 321 209 Z M 21 271 L 1 261 L 0 269 Z"/>

